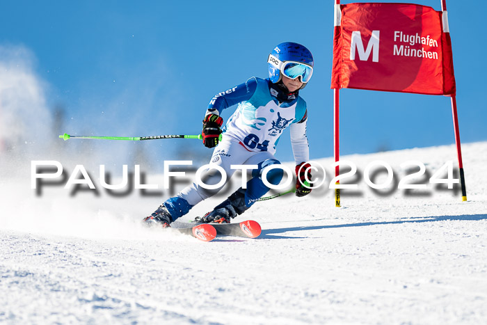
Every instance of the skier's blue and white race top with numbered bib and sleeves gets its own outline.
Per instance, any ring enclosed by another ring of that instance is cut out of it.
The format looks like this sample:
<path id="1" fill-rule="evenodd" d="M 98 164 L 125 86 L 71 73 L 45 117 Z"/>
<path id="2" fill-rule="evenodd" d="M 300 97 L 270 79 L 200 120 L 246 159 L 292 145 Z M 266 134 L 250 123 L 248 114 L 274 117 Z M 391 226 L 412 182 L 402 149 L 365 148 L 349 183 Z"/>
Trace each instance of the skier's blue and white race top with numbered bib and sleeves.
<path id="1" fill-rule="evenodd" d="M 282 131 L 289 127 L 296 164 L 309 161 L 306 102 L 294 95 L 278 102 L 278 91 L 270 83 L 269 79 L 251 77 L 244 84 L 216 94 L 209 102 L 207 115 L 220 115 L 223 109 L 238 104 L 223 127 L 224 136 L 230 136 L 253 152 L 274 154 Z"/>

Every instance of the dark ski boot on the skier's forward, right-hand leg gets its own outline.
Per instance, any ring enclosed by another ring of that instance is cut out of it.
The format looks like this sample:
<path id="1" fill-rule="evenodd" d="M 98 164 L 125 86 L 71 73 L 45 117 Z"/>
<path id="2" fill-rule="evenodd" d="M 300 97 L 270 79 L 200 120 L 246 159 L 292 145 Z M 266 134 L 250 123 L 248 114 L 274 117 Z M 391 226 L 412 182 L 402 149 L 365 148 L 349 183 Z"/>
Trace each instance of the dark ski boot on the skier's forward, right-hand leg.
<path id="1" fill-rule="evenodd" d="M 248 209 L 245 204 L 245 190 L 237 189 L 231 196 L 217 205 L 213 211 L 195 219 L 202 223 L 230 223 L 230 220 Z"/>

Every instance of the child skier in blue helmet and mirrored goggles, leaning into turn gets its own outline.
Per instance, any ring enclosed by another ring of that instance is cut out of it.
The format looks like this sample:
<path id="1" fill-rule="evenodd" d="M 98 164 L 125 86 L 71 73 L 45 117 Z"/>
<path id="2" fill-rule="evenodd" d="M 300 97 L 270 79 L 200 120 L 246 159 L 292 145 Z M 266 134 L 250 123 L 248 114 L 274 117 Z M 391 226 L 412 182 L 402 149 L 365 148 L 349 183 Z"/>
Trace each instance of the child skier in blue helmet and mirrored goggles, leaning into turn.
<path id="1" fill-rule="evenodd" d="M 280 164 L 274 157 L 282 131 L 289 127 L 294 160 L 296 161 L 296 196 L 305 196 L 311 189 L 305 187 L 305 173 L 310 180 L 308 138 L 306 123 L 308 112 L 306 102 L 298 95 L 313 72 L 311 52 L 294 42 L 283 42 L 275 47 L 267 60 L 269 78 L 251 77 L 244 84 L 218 93 L 211 99 L 203 120 L 203 144 L 214 148 L 210 164 L 218 165 L 227 174 L 235 171 L 230 165 L 257 165 L 253 178 L 246 189 L 240 188 L 213 211 L 198 221 L 209 223 L 230 223 L 230 219 L 242 214 L 263 196 L 269 187 L 262 181 L 262 170 L 273 164 Z M 227 121 L 223 130 L 223 109 L 238 104 L 237 110 Z M 219 141 L 219 136 L 223 137 Z M 282 169 L 273 168 L 266 178 L 270 184 L 279 184 Z M 205 184 L 217 184 L 220 173 L 214 173 Z M 223 185 L 224 186 L 224 185 Z M 205 189 L 196 182 L 186 187 L 177 196 L 169 198 L 154 213 L 143 221 L 148 225 L 168 227 L 170 223 L 189 212 L 202 200 L 213 196 L 218 189 Z"/>

